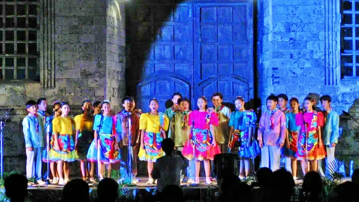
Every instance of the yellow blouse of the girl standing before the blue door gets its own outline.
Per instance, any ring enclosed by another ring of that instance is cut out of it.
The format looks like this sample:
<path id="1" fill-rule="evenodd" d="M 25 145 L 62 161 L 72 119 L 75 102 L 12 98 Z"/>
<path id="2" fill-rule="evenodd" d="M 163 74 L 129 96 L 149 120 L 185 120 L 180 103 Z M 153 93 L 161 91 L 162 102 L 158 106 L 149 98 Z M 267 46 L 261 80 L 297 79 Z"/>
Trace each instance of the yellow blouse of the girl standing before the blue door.
<path id="1" fill-rule="evenodd" d="M 162 116 L 165 116 L 164 119 L 164 130 L 167 131 L 169 127 L 170 120 L 169 118 L 163 114 Z M 150 133 L 159 133 L 160 132 L 160 116 L 153 116 L 149 113 L 141 114 L 140 116 L 140 130 L 146 130 L 146 132 Z"/>

